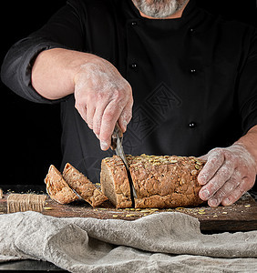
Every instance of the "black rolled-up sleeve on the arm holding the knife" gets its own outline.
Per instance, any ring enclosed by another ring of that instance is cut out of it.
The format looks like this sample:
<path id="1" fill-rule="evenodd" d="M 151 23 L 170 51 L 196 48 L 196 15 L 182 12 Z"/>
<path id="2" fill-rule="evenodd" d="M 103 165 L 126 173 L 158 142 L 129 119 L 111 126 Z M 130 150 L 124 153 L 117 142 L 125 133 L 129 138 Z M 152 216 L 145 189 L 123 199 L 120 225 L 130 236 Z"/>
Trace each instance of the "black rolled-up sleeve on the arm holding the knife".
<path id="1" fill-rule="evenodd" d="M 84 13 L 85 14 L 85 13 Z M 84 50 L 83 12 L 78 0 L 67 1 L 41 29 L 13 45 L 1 67 L 3 83 L 27 100 L 53 104 L 63 99 L 48 100 L 40 96 L 31 83 L 31 71 L 36 56 L 43 50 L 67 48 Z"/>

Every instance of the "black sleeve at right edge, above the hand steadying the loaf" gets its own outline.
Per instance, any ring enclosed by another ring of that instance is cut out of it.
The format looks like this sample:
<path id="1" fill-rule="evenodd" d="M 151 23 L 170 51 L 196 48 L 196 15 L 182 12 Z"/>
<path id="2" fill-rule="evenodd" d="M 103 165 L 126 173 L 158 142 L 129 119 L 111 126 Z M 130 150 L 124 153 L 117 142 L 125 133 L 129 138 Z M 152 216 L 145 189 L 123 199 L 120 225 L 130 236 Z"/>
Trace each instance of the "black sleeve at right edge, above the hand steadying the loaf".
<path id="1" fill-rule="evenodd" d="M 239 74 L 238 101 L 242 131 L 246 134 L 257 125 L 257 30 L 248 41 L 248 54 Z"/>

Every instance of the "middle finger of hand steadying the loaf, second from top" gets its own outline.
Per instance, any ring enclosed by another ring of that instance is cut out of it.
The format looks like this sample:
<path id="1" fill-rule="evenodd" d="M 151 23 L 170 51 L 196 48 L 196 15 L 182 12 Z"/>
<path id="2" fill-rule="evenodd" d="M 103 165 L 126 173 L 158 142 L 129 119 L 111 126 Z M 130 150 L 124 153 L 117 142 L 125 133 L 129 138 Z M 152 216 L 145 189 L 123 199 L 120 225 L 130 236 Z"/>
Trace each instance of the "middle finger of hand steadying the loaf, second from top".
<path id="1" fill-rule="evenodd" d="M 200 189 L 199 196 L 202 200 L 208 200 L 229 180 L 234 172 L 234 162 L 224 161 L 224 164 L 215 173 L 208 184 Z"/>

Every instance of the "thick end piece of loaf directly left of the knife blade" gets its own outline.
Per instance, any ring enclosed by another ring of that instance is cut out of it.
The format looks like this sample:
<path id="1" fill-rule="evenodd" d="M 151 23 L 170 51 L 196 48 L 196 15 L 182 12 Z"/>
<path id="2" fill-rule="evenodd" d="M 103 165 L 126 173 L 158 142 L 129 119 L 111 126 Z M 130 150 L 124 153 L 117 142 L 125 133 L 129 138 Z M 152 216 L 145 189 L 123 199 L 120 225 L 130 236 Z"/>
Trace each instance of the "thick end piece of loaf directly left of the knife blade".
<path id="1" fill-rule="evenodd" d="M 132 207 L 128 173 L 120 157 L 102 160 L 100 181 L 102 192 L 117 208 Z"/>

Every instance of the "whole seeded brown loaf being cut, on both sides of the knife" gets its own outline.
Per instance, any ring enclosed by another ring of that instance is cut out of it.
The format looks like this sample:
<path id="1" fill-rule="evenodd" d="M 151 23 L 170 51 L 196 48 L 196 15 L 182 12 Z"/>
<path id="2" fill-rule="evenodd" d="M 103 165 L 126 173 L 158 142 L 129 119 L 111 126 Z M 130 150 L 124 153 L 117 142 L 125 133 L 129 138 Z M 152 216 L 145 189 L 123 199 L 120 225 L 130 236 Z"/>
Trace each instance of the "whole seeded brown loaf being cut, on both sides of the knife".
<path id="1" fill-rule="evenodd" d="M 127 160 L 138 196 L 134 200 L 136 208 L 189 207 L 203 202 L 199 197 L 201 186 L 197 176 L 204 161 L 199 158 L 141 155 L 127 156 Z M 120 171 L 121 168 L 123 171 Z M 102 191 L 116 207 L 125 207 L 121 200 L 129 200 L 130 197 L 128 175 L 124 169 L 122 160 L 117 156 L 102 160 Z"/>

